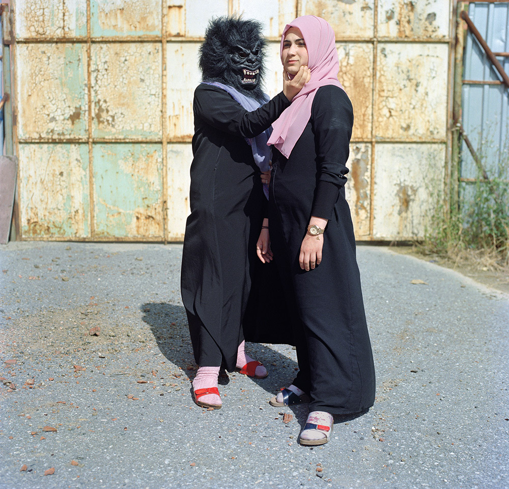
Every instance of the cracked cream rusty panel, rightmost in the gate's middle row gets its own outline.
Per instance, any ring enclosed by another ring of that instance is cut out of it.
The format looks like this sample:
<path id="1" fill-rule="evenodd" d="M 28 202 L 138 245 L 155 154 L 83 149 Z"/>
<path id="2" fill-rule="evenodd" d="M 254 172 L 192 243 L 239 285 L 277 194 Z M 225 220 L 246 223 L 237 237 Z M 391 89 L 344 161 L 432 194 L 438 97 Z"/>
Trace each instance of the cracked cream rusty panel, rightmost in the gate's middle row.
<path id="1" fill-rule="evenodd" d="M 377 138 L 445 139 L 447 66 L 447 44 L 378 45 Z"/>

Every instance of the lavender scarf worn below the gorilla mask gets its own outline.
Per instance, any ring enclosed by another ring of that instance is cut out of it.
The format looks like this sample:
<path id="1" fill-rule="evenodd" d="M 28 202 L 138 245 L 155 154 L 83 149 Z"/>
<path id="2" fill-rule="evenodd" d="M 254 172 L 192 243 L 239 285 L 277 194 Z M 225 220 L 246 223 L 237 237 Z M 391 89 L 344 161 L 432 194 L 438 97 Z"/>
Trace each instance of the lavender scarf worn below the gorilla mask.
<path id="1" fill-rule="evenodd" d="M 223 83 L 219 83 L 217 81 L 203 81 L 202 83 L 206 83 L 207 85 L 214 85 L 222 90 L 226 91 L 228 94 L 232 96 L 232 98 L 238 102 L 244 109 L 252 112 L 253 110 L 258 109 L 262 106 L 260 102 L 257 100 L 247 97 L 241 94 L 238 90 L 233 88 L 230 85 L 224 85 Z M 269 97 L 265 95 L 264 103 L 269 101 Z M 267 141 L 269 140 L 270 134 L 272 133 L 272 128 L 269 127 L 263 133 L 255 136 L 253 138 L 245 138 L 247 144 L 251 146 L 251 150 L 253 153 L 254 163 L 260 168 L 260 171 L 269 171 L 270 170 L 270 146 L 267 146 Z M 263 192 L 267 199 L 269 198 L 269 187 L 267 185 L 263 185 Z"/>

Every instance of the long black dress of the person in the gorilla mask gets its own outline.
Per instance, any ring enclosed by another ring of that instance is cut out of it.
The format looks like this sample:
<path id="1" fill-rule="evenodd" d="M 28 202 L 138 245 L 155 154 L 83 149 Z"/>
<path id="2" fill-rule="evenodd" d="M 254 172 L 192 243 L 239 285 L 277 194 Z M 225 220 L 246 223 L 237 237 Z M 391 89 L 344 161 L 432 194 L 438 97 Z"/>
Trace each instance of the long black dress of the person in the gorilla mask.
<path id="1" fill-rule="evenodd" d="M 227 370 L 235 369 L 267 206 L 260 170 L 245 138 L 270 127 L 289 105 L 281 92 L 248 112 L 214 85 L 201 84 L 194 91 L 191 213 L 181 292 L 194 357 L 201 366 L 223 361 Z"/>

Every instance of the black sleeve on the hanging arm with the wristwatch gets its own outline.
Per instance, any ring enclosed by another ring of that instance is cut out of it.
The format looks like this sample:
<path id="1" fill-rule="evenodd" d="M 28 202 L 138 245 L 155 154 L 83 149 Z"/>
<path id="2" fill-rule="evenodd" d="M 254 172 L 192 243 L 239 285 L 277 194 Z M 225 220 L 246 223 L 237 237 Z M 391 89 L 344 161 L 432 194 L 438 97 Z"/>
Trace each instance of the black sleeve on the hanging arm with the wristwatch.
<path id="1" fill-rule="evenodd" d="M 334 85 L 320 87 L 313 100 L 311 121 L 319 168 L 312 215 L 330 219 L 348 173 L 353 108 L 345 91 Z"/>

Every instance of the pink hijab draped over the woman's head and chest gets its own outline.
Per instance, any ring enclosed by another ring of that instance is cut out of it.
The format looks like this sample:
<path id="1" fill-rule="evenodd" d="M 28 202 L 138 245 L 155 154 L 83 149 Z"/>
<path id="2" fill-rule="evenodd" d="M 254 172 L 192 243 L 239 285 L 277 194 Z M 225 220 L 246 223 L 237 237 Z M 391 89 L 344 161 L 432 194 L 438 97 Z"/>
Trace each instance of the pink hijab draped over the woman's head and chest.
<path id="1" fill-rule="evenodd" d="M 337 59 L 335 35 L 330 24 L 315 15 L 297 17 L 283 30 L 279 55 L 282 55 L 283 41 L 290 27 L 297 27 L 302 33 L 309 58 L 307 66 L 311 71 L 311 79 L 294 97 L 292 105 L 285 109 L 272 124 L 272 135 L 267 144 L 273 144 L 286 158 L 290 156 L 309 121 L 317 88 L 324 85 L 336 85 L 343 88 L 337 81 L 340 64 Z"/>

